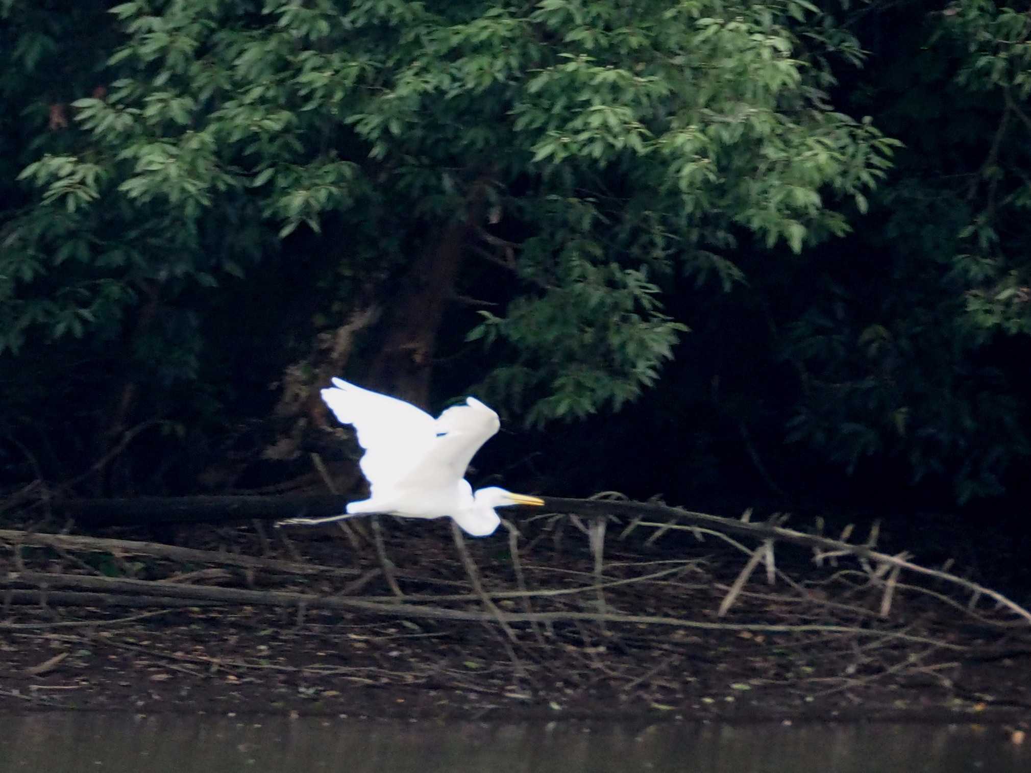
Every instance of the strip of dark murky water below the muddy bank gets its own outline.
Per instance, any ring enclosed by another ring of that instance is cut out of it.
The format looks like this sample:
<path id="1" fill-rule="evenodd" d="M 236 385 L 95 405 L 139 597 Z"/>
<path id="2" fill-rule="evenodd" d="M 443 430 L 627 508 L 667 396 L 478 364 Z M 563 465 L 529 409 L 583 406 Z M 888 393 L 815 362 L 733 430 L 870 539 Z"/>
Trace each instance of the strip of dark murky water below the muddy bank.
<path id="1" fill-rule="evenodd" d="M 1027 773 L 1031 747 L 972 726 L 631 728 L 343 718 L 0 716 L 0 773 Z"/>

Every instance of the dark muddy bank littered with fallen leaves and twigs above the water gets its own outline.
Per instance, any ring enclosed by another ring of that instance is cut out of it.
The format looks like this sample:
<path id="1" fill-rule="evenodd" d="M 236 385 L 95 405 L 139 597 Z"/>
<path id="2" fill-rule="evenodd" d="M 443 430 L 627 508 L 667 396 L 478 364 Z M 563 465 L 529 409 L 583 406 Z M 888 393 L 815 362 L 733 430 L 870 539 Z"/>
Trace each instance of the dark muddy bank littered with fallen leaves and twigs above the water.
<path id="1" fill-rule="evenodd" d="M 0 591 L 0 711 L 1031 726 L 1031 629 L 984 604 L 969 610 L 947 589 L 908 586 L 903 576 L 882 617 L 883 583 L 864 577 L 855 562 L 818 569 L 806 551 L 791 550 L 778 554 L 775 584 L 757 571 L 719 616 L 747 559 L 733 546 L 686 536 L 645 545 L 610 531 L 599 573 L 586 535 L 566 528 L 557 536 L 556 522 L 545 520 L 525 527 L 520 542 L 529 596 L 510 595 L 521 583 L 504 534 L 467 541 L 502 616 L 554 613 L 511 621 L 506 633 L 473 592 L 446 523 L 387 518 L 383 526 L 400 598 L 372 542 L 354 545 L 332 527 L 286 535 L 254 526 L 92 534 L 342 567 L 353 571 L 350 578 L 29 545 L 15 557 L 9 541 L 0 544 L 0 576 L 7 578 Z M 85 606 L 20 581 L 24 572 L 343 593 L 399 609 L 157 603 L 132 594 Z M 603 598 L 592 589 L 599 578 Z M 483 618 L 427 618 L 422 608 Z M 573 613 L 580 616 L 563 617 Z M 628 615 L 666 623 L 621 619 Z"/>

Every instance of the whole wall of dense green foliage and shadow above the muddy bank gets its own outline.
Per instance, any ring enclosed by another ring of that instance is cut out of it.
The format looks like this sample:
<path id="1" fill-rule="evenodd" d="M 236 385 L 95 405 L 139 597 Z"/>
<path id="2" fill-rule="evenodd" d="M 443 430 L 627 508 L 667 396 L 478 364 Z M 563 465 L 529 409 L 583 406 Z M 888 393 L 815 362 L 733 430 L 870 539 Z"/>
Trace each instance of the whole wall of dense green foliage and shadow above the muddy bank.
<path id="1" fill-rule="evenodd" d="M 448 239 L 456 278 L 425 291 L 447 300 L 442 398 L 475 388 L 540 426 L 667 377 L 665 432 L 708 411 L 757 462 L 794 440 L 794 463 L 890 460 L 960 499 L 1031 450 L 1022 11 L 0 0 L 0 19 L 15 475 L 70 475 L 147 425 L 174 430 L 164 461 L 122 486 L 189 488 L 269 413 L 269 381 L 312 385 L 312 342 L 407 298 Z"/>

